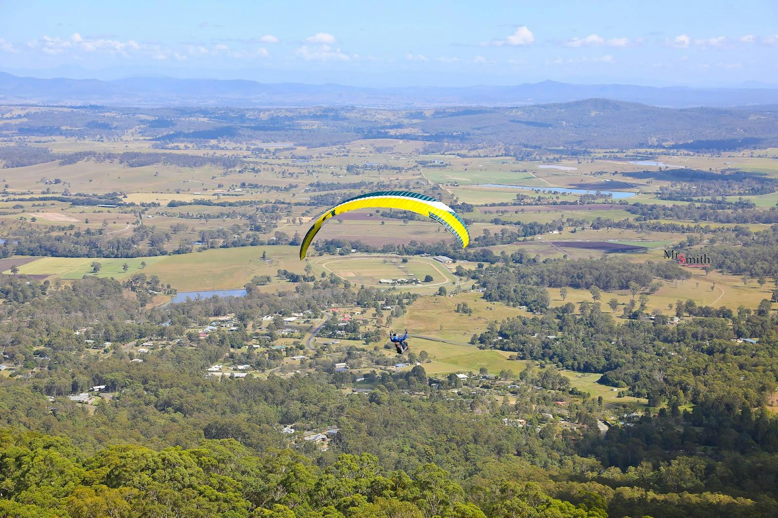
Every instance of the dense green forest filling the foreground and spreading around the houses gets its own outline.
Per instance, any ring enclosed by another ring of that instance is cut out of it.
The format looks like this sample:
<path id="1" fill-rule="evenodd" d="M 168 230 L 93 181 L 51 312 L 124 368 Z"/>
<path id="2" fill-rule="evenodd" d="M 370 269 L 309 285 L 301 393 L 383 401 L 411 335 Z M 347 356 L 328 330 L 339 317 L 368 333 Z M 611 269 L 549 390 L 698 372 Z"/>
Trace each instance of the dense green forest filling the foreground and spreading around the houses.
<path id="1" fill-rule="evenodd" d="M 525 262 L 516 263 L 518 269 L 533 267 Z M 448 389 L 462 383 L 430 388 L 422 366 L 366 375 L 375 389 L 352 395 L 338 390 L 351 378 L 331 369 L 332 360 L 315 358 L 307 376 L 204 378 L 224 355 L 244 355 L 236 351 L 247 334 L 243 326 L 206 340 L 186 333 L 214 316 L 234 314 L 243 324 L 265 314 L 310 311 L 317 317 L 333 304 L 394 306 L 392 315 L 381 313 L 388 319 L 405 311 L 416 298 L 411 294 L 354 290 L 330 276 L 279 295 L 254 290 L 243 298 L 142 311 L 110 279 L 52 289 L 6 277 L 0 332 L 7 339 L 0 349 L 32 374 L 0 380 L 0 425 L 13 427 L 0 432 L 0 512 L 11 516 L 123 509 L 125 516 L 671 518 L 776 510 L 772 471 L 755 467 L 769 464 L 778 448 L 778 425 L 766 411 L 750 410 L 775 388 L 778 366 L 769 351 L 778 322 L 769 315 L 744 309 L 676 326 L 619 325 L 595 304 L 577 313 L 566 304 L 491 324 L 475 338 L 482 347 L 506 348 L 546 365 L 501 375 L 519 388 L 515 402 L 500 403 L 452 399 Z M 127 289 L 153 283 L 130 280 Z M 12 294 L 22 286 L 29 293 L 16 299 Z M 720 325 L 727 318 L 759 344 L 729 340 L 731 330 Z M 86 334 L 75 335 L 79 327 Z M 85 338 L 119 344 L 149 337 L 177 342 L 142 363 L 128 362 L 114 346 L 103 359 L 83 352 Z M 281 362 L 245 354 L 240 361 L 258 366 Z M 352 362 L 366 352 L 344 348 L 343 354 Z M 632 427 L 612 428 L 603 442 L 595 423 L 600 404 L 585 395 L 580 404 L 569 401 L 569 380 L 554 364 L 605 373 L 605 381 L 622 384 L 626 394 L 664 401 L 667 408 Z M 703 370 L 706 376 L 696 375 Z M 93 413 L 62 397 L 96 384 L 114 398 L 97 401 Z M 554 401 L 569 401 L 566 419 L 576 429 L 539 419 L 539 409 L 552 412 Z M 527 425 L 505 425 L 503 418 L 523 418 Z M 340 431 L 327 451 L 297 437 L 291 453 L 281 432 L 289 425 Z"/>

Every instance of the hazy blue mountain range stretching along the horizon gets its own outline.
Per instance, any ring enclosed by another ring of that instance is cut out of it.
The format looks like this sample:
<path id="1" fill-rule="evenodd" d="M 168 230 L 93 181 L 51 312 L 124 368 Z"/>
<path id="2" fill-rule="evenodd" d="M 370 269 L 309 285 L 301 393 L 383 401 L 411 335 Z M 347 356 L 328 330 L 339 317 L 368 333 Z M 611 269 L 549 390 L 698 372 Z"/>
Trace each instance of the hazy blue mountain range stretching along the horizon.
<path id="1" fill-rule="evenodd" d="M 521 106 L 591 98 L 660 107 L 731 107 L 778 104 L 778 88 L 657 88 L 635 85 L 576 85 L 555 81 L 517 86 L 365 88 L 337 84 L 261 83 L 238 79 L 37 79 L 0 72 L 0 103 L 4 104 L 415 108 Z"/>

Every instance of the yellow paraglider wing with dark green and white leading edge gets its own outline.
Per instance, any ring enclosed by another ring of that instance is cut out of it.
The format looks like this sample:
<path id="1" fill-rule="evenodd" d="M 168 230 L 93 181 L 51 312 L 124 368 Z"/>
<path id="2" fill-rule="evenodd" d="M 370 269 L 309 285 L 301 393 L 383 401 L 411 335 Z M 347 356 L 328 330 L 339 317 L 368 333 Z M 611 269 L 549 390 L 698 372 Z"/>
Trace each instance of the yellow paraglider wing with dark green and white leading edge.
<path id="1" fill-rule="evenodd" d="M 462 221 L 459 215 L 442 201 L 437 201 L 435 198 L 429 198 L 429 196 L 424 194 L 411 191 L 380 191 L 355 196 L 335 205 L 335 207 L 330 208 L 319 216 L 305 234 L 303 243 L 300 244 L 300 259 L 305 259 L 311 241 L 314 240 L 325 221 L 335 215 L 353 211 L 357 208 L 397 208 L 398 210 L 415 212 L 416 214 L 434 219 L 446 227 L 457 238 L 457 241 L 463 248 L 470 243 L 468 227 L 464 225 L 464 221 Z"/>

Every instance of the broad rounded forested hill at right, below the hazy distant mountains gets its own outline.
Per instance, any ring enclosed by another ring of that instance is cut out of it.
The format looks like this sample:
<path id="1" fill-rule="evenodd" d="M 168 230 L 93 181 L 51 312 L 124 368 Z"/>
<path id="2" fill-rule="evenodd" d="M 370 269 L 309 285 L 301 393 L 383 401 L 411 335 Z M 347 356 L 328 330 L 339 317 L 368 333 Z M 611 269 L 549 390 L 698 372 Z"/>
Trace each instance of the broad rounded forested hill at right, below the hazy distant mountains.
<path id="1" fill-rule="evenodd" d="M 759 107 L 677 110 L 587 99 L 512 109 L 437 110 L 420 127 L 432 135 L 527 146 L 661 148 L 673 142 L 680 148 L 738 149 L 778 142 L 776 122 L 778 113 Z"/>

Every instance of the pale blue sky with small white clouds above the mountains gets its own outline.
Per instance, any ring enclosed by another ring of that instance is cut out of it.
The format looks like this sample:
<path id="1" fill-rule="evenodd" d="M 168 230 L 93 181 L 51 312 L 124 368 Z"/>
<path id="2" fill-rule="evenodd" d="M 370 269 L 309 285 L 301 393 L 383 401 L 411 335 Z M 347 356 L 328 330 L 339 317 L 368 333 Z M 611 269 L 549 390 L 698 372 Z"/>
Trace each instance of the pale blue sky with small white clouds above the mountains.
<path id="1" fill-rule="evenodd" d="M 357 86 L 778 85 L 776 0 L 0 0 L 0 70 Z"/>

